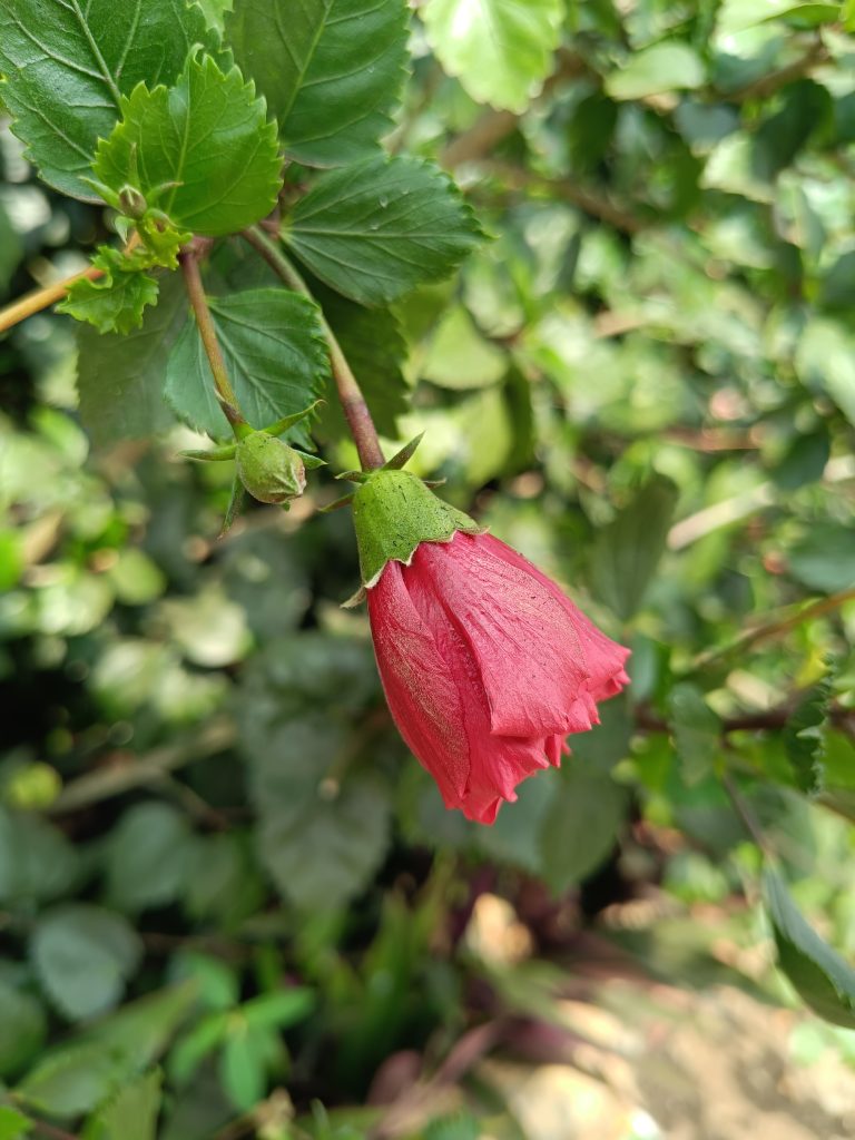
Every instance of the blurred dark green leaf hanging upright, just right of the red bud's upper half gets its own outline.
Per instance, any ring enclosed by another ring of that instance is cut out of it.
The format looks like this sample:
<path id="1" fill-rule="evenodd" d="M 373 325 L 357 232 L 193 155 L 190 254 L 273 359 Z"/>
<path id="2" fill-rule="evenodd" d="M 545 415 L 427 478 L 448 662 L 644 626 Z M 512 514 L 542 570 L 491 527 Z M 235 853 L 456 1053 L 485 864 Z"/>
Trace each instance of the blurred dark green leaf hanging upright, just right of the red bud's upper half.
<path id="1" fill-rule="evenodd" d="M 594 542 L 591 581 L 619 618 L 630 618 L 644 600 L 665 553 L 677 503 L 677 488 L 654 477 Z"/>

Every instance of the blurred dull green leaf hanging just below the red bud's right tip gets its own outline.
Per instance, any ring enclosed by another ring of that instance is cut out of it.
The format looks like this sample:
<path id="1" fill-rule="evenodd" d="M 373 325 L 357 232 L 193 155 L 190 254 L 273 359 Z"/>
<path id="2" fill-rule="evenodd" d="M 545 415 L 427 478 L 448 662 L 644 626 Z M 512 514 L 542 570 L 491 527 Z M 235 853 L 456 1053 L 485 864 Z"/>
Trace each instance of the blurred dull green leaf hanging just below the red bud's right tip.
<path id="1" fill-rule="evenodd" d="M 611 776 L 569 757 L 540 830 L 545 881 L 557 895 L 595 871 L 617 841 L 626 791 Z"/>

